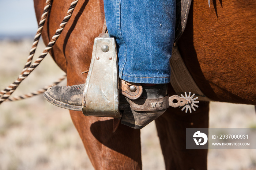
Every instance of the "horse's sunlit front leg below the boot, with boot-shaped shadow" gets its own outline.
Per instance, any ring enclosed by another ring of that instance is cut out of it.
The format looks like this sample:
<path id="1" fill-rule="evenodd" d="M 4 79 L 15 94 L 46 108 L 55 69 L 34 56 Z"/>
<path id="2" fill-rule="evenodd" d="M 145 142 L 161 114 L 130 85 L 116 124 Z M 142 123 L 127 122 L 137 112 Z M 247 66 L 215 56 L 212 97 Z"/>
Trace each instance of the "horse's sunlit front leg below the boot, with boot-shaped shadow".
<path id="1" fill-rule="evenodd" d="M 142 169 L 140 130 L 120 124 L 113 133 L 113 118 L 70 113 L 95 169 Z"/>

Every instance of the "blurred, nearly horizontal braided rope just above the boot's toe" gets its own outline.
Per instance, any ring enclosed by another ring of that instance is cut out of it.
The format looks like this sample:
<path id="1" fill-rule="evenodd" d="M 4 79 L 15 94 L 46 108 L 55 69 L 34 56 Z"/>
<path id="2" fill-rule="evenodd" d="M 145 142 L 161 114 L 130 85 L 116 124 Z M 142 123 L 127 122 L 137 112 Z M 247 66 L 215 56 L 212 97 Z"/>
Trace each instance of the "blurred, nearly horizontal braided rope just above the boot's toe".
<path id="1" fill-rule="evenodd" d="M 48 85 L 48 86 L 44 86 L 42 89 L 39 89 L 37 91 L 31 92 L 31 93 L 27 93 L 27 94 L 23 94 L 20 96 L 14 96 L 14 97 L 9 97 L 7 100 L 8 101 L 18 101 L 18 100 L 22 100 L 22 99 L 26 99 L 26 98 L 30 98 L 33 96 L 37 96 L 38 94 L 42 94 L 45 91 L 47 91 L 48 88 L 50 88 L 51 86 L 57 85 L 59 84 L 61 81 L 63 81 L 67 76 L 62 76 L 59 79 L 55 80 L 52 84 Z"/>

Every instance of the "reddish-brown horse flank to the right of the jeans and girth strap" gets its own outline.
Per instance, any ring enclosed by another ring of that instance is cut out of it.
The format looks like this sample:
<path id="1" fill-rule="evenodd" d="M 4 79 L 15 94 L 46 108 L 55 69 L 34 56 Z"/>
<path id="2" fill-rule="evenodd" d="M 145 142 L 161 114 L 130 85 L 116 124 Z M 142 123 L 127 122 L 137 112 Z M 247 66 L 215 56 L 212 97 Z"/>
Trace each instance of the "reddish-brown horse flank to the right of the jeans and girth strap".
<path id="1" fill-rule="evenodd" d="M 199 88 L 215 101 L 256 104 L 256 1 L 191 4 L 178 42 Z"/>

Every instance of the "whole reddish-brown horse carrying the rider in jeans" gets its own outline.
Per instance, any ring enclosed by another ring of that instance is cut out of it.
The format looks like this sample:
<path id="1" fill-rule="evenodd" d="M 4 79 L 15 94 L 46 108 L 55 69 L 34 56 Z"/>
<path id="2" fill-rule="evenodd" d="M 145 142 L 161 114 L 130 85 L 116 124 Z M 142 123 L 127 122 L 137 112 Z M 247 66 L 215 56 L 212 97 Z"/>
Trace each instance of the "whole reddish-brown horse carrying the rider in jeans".
<path id="1" fill-rule="evenodd" d="M 83 84 L 89 69 L 94 38 L 102 32 L 103 0 L 81 0 L 51 51 L 67 73 L 68 85 Z M 43 30 L 47 44 L 72 0 L 54 0 Z M 37 20 L 45 0 L 34 0 Z M 212 8 L 213 7 L 213 8 Z M 178 40 L 182 58 L 195 82 L 215 101 L 256 105 L 256 2 L 194 0 L 187 28 Z M 174 90 L 169 86 L 169 94 Z M 191 114 L 169 108 L 155 120 L 166 169 L 207 169 L 207 150 L 185 149 L 185 128 L 208 127 L 209 103 Z M 113 119 L 86 117 L 70 111 L 71 118 L 95 169 L 142 169 L 140 131 Z"/>

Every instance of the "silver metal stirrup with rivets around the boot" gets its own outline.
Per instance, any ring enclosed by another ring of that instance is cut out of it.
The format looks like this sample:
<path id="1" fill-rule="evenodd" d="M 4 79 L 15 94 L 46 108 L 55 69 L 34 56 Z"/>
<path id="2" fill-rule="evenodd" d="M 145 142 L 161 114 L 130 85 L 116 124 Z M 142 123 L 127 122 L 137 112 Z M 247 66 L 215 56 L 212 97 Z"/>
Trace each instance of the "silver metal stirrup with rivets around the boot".
<path id="1" fill-rule="evenodd" d="M 84 115 L 121 119 L 117 71 L 115 40 L 109 34 L 100 34 L 94 39 L 90 69 L 84 86 Z"/>

